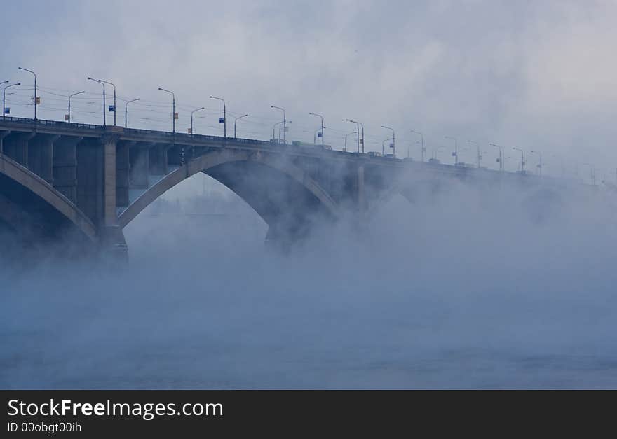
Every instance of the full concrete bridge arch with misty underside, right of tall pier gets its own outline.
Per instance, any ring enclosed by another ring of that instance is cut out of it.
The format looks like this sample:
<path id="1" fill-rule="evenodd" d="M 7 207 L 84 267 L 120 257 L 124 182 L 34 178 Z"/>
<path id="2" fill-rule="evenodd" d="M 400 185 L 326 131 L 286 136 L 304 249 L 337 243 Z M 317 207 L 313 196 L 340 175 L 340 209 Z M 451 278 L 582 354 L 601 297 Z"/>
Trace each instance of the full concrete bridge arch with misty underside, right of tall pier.
<path id="1" fill-rule="evenodd" d="M 313 214 L 338 217 L 337 203 L 290 158 L 262 151 L 224 148 L 189 160 L 150 186 L 120 214 L 121 228 L 163 193 L 199 172 L 211 176 L 245 200 L 269 225 L 269 237 L 280 233 L 283 227 L 289 228 L 289 223 L 304 223 L 306 217 Z M 292 230 L 292 234 L 298 231 Z"/>

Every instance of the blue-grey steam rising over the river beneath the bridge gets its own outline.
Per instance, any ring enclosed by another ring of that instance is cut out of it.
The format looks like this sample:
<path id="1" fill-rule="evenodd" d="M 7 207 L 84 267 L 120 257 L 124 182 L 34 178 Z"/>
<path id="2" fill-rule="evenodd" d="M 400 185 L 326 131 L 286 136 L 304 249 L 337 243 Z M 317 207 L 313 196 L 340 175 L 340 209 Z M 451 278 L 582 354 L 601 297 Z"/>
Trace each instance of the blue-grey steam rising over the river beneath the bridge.
<path id="1" fill-rule="evenodd" d="M 617 387 L 616 204 L 392 197 L 289 254 L 144 212 L 127 270 L 0 268 L 1 388 Z"/>

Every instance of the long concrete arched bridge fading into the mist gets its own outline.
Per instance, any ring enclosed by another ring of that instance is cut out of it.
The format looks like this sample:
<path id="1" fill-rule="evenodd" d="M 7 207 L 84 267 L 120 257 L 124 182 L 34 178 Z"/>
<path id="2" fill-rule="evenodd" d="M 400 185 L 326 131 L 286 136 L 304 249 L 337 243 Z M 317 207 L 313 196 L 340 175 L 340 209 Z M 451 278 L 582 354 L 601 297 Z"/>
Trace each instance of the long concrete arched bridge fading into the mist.
<path id="1" fill-rule="evenodd" d="M 316 221 L 361 215 L 393 193 L 414 200 L 447 181 L 557 184 L 320 146 L 7 117 L 0 120 L 0 225 L 26 241 L 70 236 L 84 248 L 126 253 L 123 228 L 198 172 L 255 209 L 271 242 L 294 242 Z"/>

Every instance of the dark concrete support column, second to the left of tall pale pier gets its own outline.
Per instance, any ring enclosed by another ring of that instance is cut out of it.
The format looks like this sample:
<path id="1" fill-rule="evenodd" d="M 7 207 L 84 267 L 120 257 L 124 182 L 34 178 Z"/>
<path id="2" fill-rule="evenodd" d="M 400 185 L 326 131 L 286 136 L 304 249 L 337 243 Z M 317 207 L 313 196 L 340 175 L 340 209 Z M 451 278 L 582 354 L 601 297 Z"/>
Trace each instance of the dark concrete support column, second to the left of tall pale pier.
<path id="1" fill-rule="evenodd" d="M 53 143 L 53 187 L 77 202 L 77 145 L 83 137 L 58 137 Z"/>

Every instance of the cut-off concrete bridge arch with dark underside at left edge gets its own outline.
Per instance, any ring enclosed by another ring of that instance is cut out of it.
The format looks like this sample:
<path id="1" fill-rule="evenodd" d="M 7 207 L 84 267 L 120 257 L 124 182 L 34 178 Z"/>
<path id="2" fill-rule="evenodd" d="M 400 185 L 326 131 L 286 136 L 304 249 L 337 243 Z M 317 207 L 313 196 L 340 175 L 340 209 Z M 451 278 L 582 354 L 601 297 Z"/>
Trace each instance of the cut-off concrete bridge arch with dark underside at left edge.
<path id="1" fill-rule="evenodd" d="M 15 231 L 29 228 L 39 237 L 73 226 L 90 242 L 97 229 L 67 197 L 26 167 L 0 154 L 0 221 Z"/>

